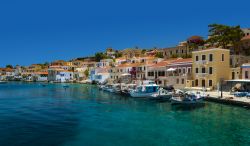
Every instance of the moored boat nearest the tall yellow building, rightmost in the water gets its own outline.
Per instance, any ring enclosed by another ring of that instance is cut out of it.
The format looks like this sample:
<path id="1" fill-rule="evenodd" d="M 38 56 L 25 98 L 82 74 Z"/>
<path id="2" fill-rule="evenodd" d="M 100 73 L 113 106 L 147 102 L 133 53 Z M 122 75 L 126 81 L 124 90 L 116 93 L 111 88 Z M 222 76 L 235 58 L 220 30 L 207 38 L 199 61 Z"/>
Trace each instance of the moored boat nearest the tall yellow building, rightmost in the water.
<path id="1" fill-rule="evenodd" d="M 200 93 L 193 92 L 180 92 L 174 93 L 171 98 L 171 104 L 197 104 L 202 103 L 205 96 L 202 96 Z"/>

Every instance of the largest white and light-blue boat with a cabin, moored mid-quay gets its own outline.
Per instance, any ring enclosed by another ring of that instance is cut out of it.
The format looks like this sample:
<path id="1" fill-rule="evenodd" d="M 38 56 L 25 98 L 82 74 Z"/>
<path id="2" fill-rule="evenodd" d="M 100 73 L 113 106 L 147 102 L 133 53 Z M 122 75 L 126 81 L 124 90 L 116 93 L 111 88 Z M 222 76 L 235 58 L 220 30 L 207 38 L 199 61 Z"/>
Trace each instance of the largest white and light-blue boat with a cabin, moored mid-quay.
<path id="1" fill-rule="evenodd" d="M 140 85 L 135 90 L 130 91 L 132 97 L 152 97 L 159 91 L 159 86 L 156 84 Z"/>

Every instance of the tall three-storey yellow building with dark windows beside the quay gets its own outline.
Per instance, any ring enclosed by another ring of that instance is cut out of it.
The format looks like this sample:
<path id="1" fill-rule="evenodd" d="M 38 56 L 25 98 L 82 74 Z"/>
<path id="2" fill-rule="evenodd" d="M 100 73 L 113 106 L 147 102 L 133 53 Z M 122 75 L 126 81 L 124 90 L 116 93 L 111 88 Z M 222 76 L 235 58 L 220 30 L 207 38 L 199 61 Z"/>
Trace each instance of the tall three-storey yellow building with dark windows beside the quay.
<path id="1" fill-rule="evenodd" d="M 193 87 L 216 89 L 221 80 L 231 76 L 230 51 L 211 48 L 192 52 Z"/>

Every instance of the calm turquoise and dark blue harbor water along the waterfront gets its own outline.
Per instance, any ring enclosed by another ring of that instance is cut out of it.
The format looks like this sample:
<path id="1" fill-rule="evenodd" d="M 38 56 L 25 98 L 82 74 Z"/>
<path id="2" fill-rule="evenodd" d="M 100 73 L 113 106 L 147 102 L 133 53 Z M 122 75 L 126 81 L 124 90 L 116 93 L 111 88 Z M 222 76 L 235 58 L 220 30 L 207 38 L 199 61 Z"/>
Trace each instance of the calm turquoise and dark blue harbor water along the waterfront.
<path id="1" fill-rule="evenodd" d="M 250 145 L 250 111 L 183 108 L 95 86 L 0 85 L 0 146 Z"/>

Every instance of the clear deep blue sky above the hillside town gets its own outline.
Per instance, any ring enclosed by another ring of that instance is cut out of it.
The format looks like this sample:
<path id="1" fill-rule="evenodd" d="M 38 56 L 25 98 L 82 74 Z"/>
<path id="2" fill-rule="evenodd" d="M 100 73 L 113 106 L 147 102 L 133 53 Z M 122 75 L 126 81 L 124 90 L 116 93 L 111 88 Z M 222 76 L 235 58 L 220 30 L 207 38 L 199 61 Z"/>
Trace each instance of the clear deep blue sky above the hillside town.
<path id="1" fill-rule="evenodd" d="M 250 27 L 248 0 L 6 0 L 0 66 L 87 56 L 107 47 L 174 46 L 208 24 Z"/>

